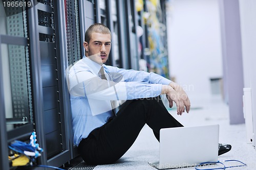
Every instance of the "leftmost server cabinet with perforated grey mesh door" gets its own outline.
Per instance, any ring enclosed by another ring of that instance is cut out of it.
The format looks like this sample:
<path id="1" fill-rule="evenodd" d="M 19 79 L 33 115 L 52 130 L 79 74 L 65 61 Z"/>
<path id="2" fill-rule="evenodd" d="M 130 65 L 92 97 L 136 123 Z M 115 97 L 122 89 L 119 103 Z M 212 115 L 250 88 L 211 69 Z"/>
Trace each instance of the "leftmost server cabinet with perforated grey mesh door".
<path id="1" fill-rule="evenodd" d="M 1 169 L 9 169 L 8 144 L 33 131 L 31 58 L 25 7 L 0 3 Z"/>

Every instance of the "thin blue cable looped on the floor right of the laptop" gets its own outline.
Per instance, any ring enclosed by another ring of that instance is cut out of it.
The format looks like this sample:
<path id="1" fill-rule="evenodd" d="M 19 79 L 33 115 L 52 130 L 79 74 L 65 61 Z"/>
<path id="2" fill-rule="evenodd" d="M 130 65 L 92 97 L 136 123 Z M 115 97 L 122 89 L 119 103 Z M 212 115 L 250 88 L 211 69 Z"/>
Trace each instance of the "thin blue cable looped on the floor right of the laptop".
<path id="1" fill-rule="evenodd" d="M 195 166 L 195 168 L 197 170 L 214 170 L 214 169 L 226 169 L 226 168 L 231 168 L 231 167 L 246 167 L 247 164 L 245 164 L 242 161 L 239 160 L 235 160 L 235 159 L 231 159 L 231 160 L 225 160 L 224 162 L 239 162 L 241 163 L 240 165 L 233 165 L 233 166 L 225 166 L 224 163 L 222 163 L 221 161 L 217 161 L 217 162 L 203 162 L 203 163 L 199 163 L 198 165 Z M 201 166 L 203 167 L 209 167 L 210 164 L 221 164 L 222 167 L 216 167 L 216 168 L 199 168 Z"/>

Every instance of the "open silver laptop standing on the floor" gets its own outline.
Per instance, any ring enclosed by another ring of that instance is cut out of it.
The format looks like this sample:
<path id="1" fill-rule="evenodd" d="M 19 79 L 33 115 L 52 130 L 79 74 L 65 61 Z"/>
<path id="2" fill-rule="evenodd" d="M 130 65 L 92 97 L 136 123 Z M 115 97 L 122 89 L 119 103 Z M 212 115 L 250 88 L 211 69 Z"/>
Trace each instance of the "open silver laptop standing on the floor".
<path id="1" fill-rule="evenodd" d="M 159 161 L 148 162 L 158 169 L 195 167 L 218 161 L 219 125 L 165 128 L 160 130 Z"/>

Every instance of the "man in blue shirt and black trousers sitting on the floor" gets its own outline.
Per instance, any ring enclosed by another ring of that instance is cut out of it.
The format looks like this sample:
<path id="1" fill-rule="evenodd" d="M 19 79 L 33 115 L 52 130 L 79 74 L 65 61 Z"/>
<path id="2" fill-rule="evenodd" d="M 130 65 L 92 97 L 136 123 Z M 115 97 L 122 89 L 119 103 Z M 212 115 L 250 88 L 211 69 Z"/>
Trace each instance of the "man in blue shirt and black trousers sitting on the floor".
<path id="1" fill-rule="evenodd" d="M 85 56 L 68 72 L 74 144 L 88 164 L 113 163 L 132 146 L 147 124 L 159 140 L 162 128 L 182 125 L 166 110 L 160 94 L 177 114 L 189 112 L 190 102 L 178 84 L 153 72 L 104 65 L 111 50 L 111 32 L 101 23 L 86 31 Z M 126 101 L 115 113 L 117 101 Z M 178 143 L 177 143 L 178 144 Z M 219 155 L 231 149 L 220 145 Z"/>

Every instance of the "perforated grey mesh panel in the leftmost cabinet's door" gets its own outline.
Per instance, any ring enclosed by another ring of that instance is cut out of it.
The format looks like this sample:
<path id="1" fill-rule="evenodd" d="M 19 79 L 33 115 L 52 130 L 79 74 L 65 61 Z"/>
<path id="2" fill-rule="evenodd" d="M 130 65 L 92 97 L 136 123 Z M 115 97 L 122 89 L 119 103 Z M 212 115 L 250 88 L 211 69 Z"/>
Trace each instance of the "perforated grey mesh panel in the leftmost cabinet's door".
<path id="1" fill-rule="evenodd" d="M 17 13 L 17 10 L 19 9 L 7 9 L 7 34 L 11 36 L 27 37 L 27 12 Z M 28 47 L 22 45 L 8 45 L 8 51 L 13 117 L 27 117 L 28 120 L 32 121 L 32 96 Z"/>

